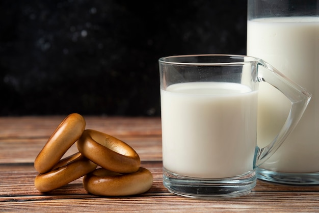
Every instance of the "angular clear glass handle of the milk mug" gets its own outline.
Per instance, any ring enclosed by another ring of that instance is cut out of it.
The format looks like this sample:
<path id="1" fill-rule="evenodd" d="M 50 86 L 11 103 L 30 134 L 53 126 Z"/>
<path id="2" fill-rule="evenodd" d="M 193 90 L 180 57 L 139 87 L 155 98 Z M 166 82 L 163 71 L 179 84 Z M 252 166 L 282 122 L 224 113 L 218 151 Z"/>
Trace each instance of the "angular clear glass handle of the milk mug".
<path id="1" fill-rule="evenodd" d="M 290 134 L 291 130 L 295 128 L 305 112 L 312 95 L 262 59 L 256 60 L 255 76 L 258 82 L 267 82 L 272 85 L 291 102 L 288 117 L 275 139 L 263 148 L 256 147 L 253 165 L 258 167 L 280 147 Z"/>

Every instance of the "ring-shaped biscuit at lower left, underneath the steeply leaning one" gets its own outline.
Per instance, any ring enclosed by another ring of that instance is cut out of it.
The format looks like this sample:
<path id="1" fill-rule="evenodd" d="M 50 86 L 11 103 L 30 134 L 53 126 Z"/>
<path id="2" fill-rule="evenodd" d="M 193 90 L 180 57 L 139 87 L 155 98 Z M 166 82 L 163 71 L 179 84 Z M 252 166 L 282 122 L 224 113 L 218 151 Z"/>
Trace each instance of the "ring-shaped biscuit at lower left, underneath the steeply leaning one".
<path id="1" fill-rule="evenodd" d="M 77 152 L 61 159 L 51 171 L 38 174 L 34 180 L 34 185 L 40 192 L 49 192 L 94 171 L 96 167 L 96 164 Z"/>

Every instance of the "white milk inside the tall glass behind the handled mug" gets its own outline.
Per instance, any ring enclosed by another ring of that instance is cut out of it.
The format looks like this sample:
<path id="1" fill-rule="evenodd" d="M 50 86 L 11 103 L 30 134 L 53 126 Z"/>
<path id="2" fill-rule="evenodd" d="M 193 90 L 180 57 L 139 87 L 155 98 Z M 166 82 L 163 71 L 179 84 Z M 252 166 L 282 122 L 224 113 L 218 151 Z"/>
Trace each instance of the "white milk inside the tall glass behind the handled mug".
<path id="1" fill-rule="evenodd" d="M 279 17 L 247 23 L 247 55 L 269 62 L 304 87 L 312 98 L 282 146 L 260 167 L 279 172 L 319 172 L 319 17 Z M 278 134 L 289 101 L 261 83 L 258 97 L 258 145 Z"/>

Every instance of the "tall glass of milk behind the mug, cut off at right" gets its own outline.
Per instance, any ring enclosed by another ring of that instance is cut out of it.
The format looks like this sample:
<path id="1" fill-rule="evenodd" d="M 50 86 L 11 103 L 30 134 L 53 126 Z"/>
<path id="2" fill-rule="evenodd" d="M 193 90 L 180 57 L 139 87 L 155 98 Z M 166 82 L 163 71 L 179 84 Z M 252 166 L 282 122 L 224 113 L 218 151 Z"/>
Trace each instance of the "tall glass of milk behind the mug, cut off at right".
<path id="1" fill-rule="evenodd" d="M 269 62 L 312 94 L 300 122 L 257 177 L 319 184 L 319 1 L 248 0 L 247 55 Z M 258 104 L 257 141 L 265 146 L 285 122 L 290 102 L 265 84 Z"/>

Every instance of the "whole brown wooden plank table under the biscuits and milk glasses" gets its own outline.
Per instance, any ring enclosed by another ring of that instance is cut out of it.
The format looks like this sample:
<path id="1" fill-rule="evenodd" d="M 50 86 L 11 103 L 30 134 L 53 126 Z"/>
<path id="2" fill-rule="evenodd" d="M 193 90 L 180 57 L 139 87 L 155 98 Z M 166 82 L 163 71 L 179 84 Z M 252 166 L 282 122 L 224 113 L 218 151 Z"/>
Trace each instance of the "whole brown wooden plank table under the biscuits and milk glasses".
<path id="1" fill-rule="evenodd" d="M 49 136 L 63 120 L 55 117 L 0 118 L 0 212 L 319 212 L 319 187 L 290 187 L 258 180 L 246 196 L 198 200 L 173 195 L 162 183 L 161 120 L 84 116 L 86 128 L 103 131 L 132 146 L 142 166 L 154 177 L 152 188 L 138 196 L 98 197 L 88 194 L 82 178 L 51 193 L 34 188 L 33 167 Z M 66 153 L 76 152 L 72 146 Z"/>

